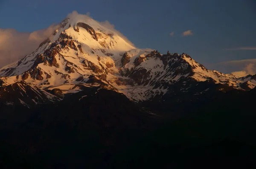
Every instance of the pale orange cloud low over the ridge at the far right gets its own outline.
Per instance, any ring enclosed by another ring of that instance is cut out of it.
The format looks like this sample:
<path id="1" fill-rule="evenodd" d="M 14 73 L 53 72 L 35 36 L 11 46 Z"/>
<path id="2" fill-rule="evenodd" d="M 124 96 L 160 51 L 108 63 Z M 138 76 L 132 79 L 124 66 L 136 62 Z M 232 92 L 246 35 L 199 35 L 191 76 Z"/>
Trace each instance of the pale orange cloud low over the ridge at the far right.
<path id="1" fill-rule="evenodd" d="M 231 70 L 233 75 L 240 77 L 256 74 L 256 59 L 231 60 L 221 62 L 219 65 Z"/>

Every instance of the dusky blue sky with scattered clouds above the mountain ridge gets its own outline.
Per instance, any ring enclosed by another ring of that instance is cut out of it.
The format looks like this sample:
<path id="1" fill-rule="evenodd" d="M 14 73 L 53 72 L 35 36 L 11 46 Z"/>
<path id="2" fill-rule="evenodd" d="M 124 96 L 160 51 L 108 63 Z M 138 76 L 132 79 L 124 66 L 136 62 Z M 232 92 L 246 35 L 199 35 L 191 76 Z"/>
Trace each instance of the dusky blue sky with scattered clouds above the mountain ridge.
<path id="1" fill-rule="evenodd" d="M 36 48 L 72 11 L 108 20 L 138 48 L 186 53 L 223 73 L 256 74 L 255 0 L 0 0 L 0 62 Z"/>

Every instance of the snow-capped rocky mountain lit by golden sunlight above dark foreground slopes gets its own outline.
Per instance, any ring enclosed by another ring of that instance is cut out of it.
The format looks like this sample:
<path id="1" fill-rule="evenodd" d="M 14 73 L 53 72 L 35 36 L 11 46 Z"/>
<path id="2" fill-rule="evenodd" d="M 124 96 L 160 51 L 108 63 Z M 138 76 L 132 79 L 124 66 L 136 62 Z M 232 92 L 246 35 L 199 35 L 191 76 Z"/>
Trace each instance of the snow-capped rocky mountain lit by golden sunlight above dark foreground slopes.
<path id="1" fill-rule="evenodd" d="M 30 98 L 1 99 L 4 104 L 58 101 L 96 86 L 143 102 L 177 93 L 199 97 L 213 90 L 250 90 L 256 86 L 256 75 L 239 78 L 208 70 L 188 54 L 143 51 L 90 17 L 73 13 L 36 51 L 1 68 L 0 86 L 2 98 L 12 90 Z M 26 93 L 27 88 L 35 94 Z"/>

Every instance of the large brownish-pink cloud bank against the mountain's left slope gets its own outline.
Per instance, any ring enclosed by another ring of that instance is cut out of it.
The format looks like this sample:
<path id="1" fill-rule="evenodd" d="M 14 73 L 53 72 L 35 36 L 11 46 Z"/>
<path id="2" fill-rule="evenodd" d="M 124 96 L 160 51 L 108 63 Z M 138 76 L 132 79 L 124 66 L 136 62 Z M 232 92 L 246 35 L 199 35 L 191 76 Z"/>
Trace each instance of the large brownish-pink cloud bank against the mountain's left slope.
<path id="1" fill-rule="evenodd" d="M 35 51 L 57 27 L 58 25 L 51 25 L 32 33 L 0 29 L 0 68 Z"/>

